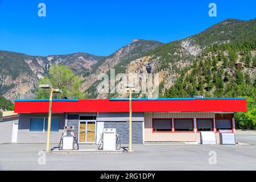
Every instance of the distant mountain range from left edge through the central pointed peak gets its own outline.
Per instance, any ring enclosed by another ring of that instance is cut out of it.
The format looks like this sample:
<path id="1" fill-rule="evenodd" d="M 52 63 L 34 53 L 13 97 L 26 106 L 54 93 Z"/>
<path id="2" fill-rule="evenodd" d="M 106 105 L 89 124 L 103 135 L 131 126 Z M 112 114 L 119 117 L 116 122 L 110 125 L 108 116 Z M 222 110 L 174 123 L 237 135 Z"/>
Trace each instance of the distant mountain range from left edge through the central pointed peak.
<path id="1" fill-rule="evenodd" d="M 95 56 L 88 53 L 69 55 L 29 56 L 23 53 L 0 51 L 0 95 L 8 100 L 34 97 L 36 82 L 47 75 L 51 64 L 63 64 L 79 75 L 84 90 L 97 80 L 98 73 L 122 61 L 132 60 L 162 43 L 134 39 L 110 56 Z M 96 80 L 95 80 L 96 79 Z"/>

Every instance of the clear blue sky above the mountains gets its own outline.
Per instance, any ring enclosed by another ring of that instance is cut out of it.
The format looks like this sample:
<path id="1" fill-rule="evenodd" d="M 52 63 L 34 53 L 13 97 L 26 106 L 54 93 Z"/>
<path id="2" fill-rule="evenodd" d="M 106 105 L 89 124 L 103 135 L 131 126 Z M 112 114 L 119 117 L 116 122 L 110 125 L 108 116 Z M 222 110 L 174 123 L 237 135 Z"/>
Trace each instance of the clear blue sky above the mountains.
<path id="1" fill-rule="evenodd" d="M 46 17 L 38 16 L 40 2 Z M 208 15 L 210 2 L 217 17 Z M 255 7 L 255 0 L 0 0 L 0 50 L 106 56 L 134 38 L 167 43 L 227 18 L 254 19 Z"/>

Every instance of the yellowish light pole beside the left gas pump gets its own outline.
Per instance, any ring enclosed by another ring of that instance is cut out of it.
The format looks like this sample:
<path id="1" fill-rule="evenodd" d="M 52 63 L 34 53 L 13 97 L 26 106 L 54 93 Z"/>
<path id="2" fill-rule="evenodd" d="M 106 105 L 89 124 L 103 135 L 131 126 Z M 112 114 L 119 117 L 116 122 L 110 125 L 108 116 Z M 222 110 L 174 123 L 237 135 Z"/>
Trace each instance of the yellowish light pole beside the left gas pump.
<path id="1" fill-rule="evenodd" d="M 53 89 L 52 85 L 45 84 L 39 85 L 40 88 L 49 89 L 50 90 L 50 97 L 49 97 L 49 113 L 48 113 L 48 129 L 47 129 L 47 144 L 46 144 L 46 152 L 49 152 L 49 139 L 51 133 L 51 120 L 52 120 L 52 96 L 53 93 L 61 93 L 60 89 Z"/>

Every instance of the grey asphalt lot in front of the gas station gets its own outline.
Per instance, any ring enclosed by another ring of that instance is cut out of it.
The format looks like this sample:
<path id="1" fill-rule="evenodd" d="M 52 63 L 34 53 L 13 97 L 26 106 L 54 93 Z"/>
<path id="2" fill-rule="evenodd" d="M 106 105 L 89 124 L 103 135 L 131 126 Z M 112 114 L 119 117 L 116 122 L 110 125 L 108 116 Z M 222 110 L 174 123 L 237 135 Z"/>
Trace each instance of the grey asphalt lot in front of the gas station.
<path id="1" fill-rule="evenodd" d="M 0 144 L 1 170 L 256 170 L 256 132 L 238 132 L 237 146 L 134 144 L 122 154 L 46 154 L 46 144 Z M 52 144 L 56 146 L 57 144 Z M 95 145 L 86 147 L 96 147 Z M 212 163 L 210 154 L 216 154 Z M 40 158 L 41 157 L 41 158 Z M 39 163 L 38 163 L 39 160 Z"/>

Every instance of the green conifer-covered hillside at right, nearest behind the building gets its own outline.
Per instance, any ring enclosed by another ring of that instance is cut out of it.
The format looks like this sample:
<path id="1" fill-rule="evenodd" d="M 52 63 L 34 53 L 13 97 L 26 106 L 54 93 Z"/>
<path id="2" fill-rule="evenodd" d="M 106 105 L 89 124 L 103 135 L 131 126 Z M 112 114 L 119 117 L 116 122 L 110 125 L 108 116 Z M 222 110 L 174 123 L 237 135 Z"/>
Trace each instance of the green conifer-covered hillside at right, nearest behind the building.
<path id="1" fill-rule="evenodd" d="M 255 48 L 255 38 L 213 44 L 180 73 L 162 96 L 246 97 L 248 111 L 236 114 L 237 127 L 256 129 Z"/>

